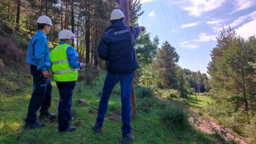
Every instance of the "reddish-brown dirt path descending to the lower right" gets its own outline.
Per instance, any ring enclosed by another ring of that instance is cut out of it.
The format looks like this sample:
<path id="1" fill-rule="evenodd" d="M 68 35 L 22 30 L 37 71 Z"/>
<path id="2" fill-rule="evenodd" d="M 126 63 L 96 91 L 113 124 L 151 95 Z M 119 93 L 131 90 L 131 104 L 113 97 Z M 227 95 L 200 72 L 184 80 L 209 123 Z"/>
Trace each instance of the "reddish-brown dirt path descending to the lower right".
<path id="1" fill-rule="evenodd" d="M 156 95 L 157 99 L 161 101 L 168 101 Z M 200 129 L 200 131 L 205 132 L 207 134 L 216 134 L 225 141 L 234 140 L 241 144 L 250 144 L 248 141 L 240 138 L 234 134 L 234 132 L 228 130 L 227 128 L 217 124 L 214 120 L 205 120 L 202 116 L 197 115 L 189 108 L 189 122 L 196 127 L 196 129 Z"/>

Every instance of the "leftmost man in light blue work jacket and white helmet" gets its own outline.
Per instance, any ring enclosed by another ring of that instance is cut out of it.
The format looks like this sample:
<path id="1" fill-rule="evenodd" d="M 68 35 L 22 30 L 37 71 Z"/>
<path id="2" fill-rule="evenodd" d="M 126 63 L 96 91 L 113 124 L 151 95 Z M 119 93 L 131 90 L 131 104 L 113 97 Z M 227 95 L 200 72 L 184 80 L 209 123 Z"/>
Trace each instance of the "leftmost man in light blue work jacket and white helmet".
<path id="1" fill-rule="evenodd" d="M 40 119 L 56 118 L 55 114 L 49 112 L 52 85 L 48 70 L 51 63 L 46 35 L 51 29 L 52 22 L 46 15 L 38 17 L 36 22 L 38 24 L 38 31 L 36 31 L 29 42 L 26 56 L 26 61 L 30 64 L 30 71 L 33 76 L 33 93 L 29 101 L 28 115 L 25 119 L 26 129 L 44 127 L 44 123 L 36 122 L 36 111 L 39 108 Z"/>

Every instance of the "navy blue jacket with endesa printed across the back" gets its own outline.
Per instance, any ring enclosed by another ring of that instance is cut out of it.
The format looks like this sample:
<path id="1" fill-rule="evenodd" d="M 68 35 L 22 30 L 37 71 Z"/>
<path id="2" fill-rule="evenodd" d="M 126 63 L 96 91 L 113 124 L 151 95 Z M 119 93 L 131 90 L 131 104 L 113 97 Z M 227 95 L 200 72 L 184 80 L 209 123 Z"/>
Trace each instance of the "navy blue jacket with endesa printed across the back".
<path id="1" fill-rule="evenodd" d="M 116 21 L 102 35 L 97 49 L 102 60 L 109 61 L 108 72 L 111 74 L 131 74 L 138 68 L 138 60 L 134 51 L 136 38 L 141 28 L 125 26 Z"/>

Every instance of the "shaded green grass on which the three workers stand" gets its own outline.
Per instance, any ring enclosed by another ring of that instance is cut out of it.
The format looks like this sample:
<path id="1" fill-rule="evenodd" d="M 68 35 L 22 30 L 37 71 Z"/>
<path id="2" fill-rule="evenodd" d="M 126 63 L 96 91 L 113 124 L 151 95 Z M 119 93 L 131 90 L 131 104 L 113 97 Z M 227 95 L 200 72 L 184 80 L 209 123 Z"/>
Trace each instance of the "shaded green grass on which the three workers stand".
<path id="1" fill-rule="evenodd" d="M 93 83 L 92 86 L 77 83 L 74 90 L 72 113 L 77 125 L 77 131 L 59 133 L 57 122 L 46 121 L 46 127 L 42 129 L 24 129 L 23 118 L 28 111 L 28 102 L 32 88 L 26 88 L 23 93 L 16 95 L 0 94 L 0 143 L 120 143 L 122 138 L 120 127 L 122 121 L 110 120 L 109 115 L 120 114 L 120 96 L 118 92 L 111 95 L 104 133 L 96 134 L 92 131 L 92 124 L 97 116 L 97 106 L 104 81 L 104 74 Z M 57 113 L 58 90 L 52 83 L 51 111 Z M 76 104 L 77 99 L 86 99 L 84 106 Z M 156 108 L 149 113 L 138 110 L 132 120 L 133 131 L 137 136 L 134 143 L 220 143 L 210 134 L 204 134 L 195 130 L 192 126 L 186 129 L 168 129 L 160 120 L 159 111 Z"/>

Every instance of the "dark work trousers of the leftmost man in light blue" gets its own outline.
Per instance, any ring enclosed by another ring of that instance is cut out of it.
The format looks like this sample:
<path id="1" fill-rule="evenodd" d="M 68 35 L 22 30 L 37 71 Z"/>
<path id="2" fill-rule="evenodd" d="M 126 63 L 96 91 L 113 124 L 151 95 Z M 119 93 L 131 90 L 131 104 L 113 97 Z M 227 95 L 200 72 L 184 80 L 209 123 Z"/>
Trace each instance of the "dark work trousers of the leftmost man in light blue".
<path id="1" fill-rule="evenodd" d="M 33 76 L 33 93 L 29 101 L 27 123 L 36 122 L 36 111 L 41 107 L 40 113 L 45 113 L 51 106 L 52 84 L 49 77 L 44 77 L 42 71 L 37 70 L 35 65 L 30 66 Z"/>

